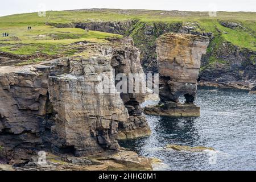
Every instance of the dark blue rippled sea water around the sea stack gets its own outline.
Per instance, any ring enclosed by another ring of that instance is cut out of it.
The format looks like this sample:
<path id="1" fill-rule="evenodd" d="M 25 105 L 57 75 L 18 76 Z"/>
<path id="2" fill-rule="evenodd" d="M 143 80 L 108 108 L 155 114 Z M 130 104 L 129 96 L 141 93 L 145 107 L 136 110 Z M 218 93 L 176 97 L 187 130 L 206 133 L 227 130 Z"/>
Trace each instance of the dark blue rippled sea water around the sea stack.
<path id="1" fill-rule="evenodd" d="M 181 98 L 181 102 L 184 101 Z M 158 101 L 146 101 L 142 106 Z M 121 146 L 139 155 L 161 159 L 155 170 L 256 170 L 256 95 L 245 90 L 199 88 L 201 116 L 168 118 L 146 115 L 152 135 Z M 213 147 L 186 152 L 167 144 Z"/>

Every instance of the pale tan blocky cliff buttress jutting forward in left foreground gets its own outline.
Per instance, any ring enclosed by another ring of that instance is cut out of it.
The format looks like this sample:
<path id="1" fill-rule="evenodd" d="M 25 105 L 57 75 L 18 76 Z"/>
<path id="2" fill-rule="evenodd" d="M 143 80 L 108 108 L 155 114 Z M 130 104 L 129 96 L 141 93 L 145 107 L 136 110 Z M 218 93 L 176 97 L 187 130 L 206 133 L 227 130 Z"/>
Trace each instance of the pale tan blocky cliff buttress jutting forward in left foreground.
<path id="1" fill-rule="evenodd" d="M 52 127 L 55 150 L 77 156 L 118 150 L 118 122 L 126 122 L 129 115 L 119 93 L 97 90 L 98 75 L 112 70 L 110 57 L 78 57 L 60 64 L 68 65 L 69 72 L 49 77 L 50 101 L 57 113 Z"/>

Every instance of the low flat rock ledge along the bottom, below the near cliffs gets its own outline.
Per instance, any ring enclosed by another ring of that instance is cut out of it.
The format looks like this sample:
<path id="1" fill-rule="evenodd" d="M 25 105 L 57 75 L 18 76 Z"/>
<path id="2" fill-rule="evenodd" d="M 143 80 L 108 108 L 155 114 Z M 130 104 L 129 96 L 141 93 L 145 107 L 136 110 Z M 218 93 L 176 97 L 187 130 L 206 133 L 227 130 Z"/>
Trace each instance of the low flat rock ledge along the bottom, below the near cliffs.
<path id="1" fill-rule="evenodd" d="M 135 152 L 120 150 L 103 156 L 90 155 L 77 158 L 46 152 L 42 163 L 40 156 L 32 156 L 26 164 L 11 166 L 0 164 L 0 171 L 150 171 L 151 160 Z M 41 163 L 40 163 L 41 162 Z"/>

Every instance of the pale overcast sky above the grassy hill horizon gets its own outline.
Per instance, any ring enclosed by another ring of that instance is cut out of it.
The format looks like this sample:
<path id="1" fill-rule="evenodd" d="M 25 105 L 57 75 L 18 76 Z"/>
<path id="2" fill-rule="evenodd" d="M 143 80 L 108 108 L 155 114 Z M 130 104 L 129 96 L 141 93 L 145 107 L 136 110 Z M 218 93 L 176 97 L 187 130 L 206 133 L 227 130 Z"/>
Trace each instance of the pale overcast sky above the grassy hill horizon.
<path id="1" fill-rule="evenodd" d="M 1 0 L 0 16 L 46 10 L 90 8 L 185 10 L 185 11 L 256 11 L 256 0 Z"/>

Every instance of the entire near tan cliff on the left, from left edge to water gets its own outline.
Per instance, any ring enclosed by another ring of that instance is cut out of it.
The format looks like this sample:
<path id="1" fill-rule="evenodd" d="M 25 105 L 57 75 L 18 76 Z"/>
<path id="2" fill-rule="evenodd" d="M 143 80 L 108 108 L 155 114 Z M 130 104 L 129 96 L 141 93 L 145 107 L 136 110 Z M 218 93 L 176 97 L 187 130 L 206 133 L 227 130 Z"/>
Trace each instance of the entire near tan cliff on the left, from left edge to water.
<path id="1" fill-rule="evenodd" d="M 6 150 L 52 147 L 82 156 L 117 151 L 118 130 L 123 139 L 148 135 L 139 107 L 144 96 L 121 97 L 111 74 L 115 67 L 143 73 L 139 51 L 131 43 L 127 39 L 85 45 L 83 56 L 0 67 L 0 146 Z M 101 73 L 115 92 L 98 89 Z"/>

